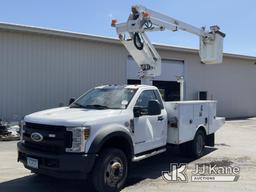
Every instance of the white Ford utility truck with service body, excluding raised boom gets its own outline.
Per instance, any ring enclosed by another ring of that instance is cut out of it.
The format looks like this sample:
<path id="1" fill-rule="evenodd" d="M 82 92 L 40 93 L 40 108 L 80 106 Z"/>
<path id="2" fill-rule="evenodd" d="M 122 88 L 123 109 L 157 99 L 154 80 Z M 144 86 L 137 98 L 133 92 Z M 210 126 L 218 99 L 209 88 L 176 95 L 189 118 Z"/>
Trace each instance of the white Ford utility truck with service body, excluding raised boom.
<path id="1" fill-rule="evenodd" d="M 114 191 L 124 186 L 130 162 L 168 144 L 202 156 L 223 123 L 215 101 L 163 102 L 154 86 L 100 86 L 67 107 L 25 116 L 18 161 L 49 176 L 90 175 L 98 191 Z"/>

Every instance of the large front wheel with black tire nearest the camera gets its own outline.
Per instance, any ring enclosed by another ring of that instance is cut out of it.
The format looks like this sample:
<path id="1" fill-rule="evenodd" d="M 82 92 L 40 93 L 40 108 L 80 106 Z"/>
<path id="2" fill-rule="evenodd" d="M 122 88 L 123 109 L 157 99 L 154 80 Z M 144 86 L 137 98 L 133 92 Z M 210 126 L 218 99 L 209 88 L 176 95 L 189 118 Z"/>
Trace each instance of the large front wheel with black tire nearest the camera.
<path id="1" fill-rule="evenodd" d="M 98 192 L 120 191 L 128 175 L 128 160 L 123 151 L 105 149 L 96 161 L 92 182 Z"/>

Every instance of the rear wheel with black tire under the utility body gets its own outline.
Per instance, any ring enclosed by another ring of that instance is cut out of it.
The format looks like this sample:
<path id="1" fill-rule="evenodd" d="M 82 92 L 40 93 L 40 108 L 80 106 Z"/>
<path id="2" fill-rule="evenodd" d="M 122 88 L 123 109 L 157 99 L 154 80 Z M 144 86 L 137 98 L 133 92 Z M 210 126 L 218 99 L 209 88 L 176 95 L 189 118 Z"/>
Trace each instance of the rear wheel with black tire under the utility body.
<path id="1" fill-rule="evenodd" d="M 191 142 L 191 155 L 195 158 L 202 157 L 205 148 L 205 133 L 199 129 L 196 132 L 194 140 Z"/>

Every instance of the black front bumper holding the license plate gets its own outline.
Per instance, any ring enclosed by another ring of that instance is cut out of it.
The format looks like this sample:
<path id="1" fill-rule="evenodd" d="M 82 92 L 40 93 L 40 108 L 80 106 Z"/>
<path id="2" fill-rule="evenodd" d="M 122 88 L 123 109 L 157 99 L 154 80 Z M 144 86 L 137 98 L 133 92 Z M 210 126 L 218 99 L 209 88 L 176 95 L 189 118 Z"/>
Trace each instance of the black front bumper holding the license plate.
<path id="1" fill-rule="evenodd" d="M 86 179 L 91 172 L 96 154 L 49 154 L 27 149 L 18 142 L 18 161 L 35 173 L 66 179 Z M 38 169 L 27 166 L 27 157 L 38 159 Z"/>

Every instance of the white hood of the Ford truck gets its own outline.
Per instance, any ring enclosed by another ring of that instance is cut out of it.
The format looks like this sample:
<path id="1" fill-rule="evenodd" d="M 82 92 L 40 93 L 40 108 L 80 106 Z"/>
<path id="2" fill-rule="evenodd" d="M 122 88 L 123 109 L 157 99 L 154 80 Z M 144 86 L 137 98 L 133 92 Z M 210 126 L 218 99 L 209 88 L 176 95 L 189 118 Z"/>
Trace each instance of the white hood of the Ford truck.
<path id="1" fill-rule="evenodd" d="M 121 112 L 121 109 L 96 110 L 60 107 L 32 113 L 25 116 L 24 120 L 39 124 L 82 126 L 88 122 L 118 116 Z"/>

